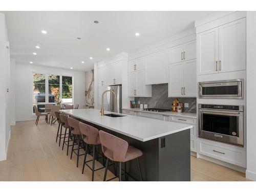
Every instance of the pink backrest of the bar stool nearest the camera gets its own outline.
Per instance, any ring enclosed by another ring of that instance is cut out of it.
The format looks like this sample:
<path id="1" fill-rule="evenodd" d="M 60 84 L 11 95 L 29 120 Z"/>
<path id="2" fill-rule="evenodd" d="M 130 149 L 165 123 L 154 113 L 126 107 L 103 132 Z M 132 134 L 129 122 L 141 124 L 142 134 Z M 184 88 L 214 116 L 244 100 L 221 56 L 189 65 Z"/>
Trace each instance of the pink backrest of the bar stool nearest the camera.
<path id="1" fill-rule="evenodd" d="M 125 155 L 129 146 L 127 141 L 101 130 L 99 131 L 99 138 L 103 153 L 105 153 L 107 150 L 111 150 L 114 161 L 125 161 Z"/>

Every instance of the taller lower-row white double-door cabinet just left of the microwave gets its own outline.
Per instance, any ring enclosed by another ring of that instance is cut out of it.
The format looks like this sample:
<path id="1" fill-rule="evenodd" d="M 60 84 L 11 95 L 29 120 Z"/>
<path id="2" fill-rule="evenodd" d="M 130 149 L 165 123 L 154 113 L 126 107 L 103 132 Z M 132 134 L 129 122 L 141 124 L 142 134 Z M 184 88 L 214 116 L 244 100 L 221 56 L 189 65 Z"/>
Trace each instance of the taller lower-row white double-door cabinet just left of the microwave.
<path id="1" fill-rule="evenodd" d="M 168 97 L 197 97 L 196 59 L 169 65 Z"/>

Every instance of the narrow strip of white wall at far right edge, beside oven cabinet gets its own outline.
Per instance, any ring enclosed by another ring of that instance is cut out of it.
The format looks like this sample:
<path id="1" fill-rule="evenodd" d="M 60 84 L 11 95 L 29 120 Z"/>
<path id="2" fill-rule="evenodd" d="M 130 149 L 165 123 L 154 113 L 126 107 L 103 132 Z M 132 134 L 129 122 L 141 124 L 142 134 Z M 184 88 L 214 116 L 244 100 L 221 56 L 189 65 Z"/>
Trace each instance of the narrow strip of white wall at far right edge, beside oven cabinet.
<path id="1" fill-rule="evenodd" d="M 247 169 L 246 178 L 256 181 L 256 12 L 247 12 Z"/>

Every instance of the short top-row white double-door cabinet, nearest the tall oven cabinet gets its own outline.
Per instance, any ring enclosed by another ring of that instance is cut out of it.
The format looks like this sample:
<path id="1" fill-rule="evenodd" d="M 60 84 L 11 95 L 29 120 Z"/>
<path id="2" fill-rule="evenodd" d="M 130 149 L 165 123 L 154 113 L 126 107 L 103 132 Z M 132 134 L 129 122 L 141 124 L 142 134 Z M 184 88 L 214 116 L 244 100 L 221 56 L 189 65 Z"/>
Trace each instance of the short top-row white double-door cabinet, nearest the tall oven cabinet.
<path id="1" fill-rule="evenodd" d="M 197 41 L 189 41 L 169 49 L 169 63 L 176 63 L 197 57 Z"/>

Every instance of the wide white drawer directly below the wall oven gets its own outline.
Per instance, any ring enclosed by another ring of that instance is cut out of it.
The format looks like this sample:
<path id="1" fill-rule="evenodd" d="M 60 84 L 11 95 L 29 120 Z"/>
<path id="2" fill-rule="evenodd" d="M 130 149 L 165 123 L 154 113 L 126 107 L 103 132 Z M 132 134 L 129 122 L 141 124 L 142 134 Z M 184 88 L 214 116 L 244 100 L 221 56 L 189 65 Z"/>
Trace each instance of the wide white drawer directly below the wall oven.
<path id="1" fill-rule="evenodd" d="M 246 167 L 246 152 L 210 141 L 198 139 L 198 153 L 221 161 Z"/>

